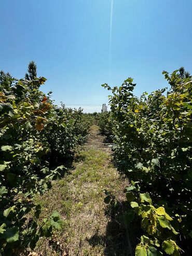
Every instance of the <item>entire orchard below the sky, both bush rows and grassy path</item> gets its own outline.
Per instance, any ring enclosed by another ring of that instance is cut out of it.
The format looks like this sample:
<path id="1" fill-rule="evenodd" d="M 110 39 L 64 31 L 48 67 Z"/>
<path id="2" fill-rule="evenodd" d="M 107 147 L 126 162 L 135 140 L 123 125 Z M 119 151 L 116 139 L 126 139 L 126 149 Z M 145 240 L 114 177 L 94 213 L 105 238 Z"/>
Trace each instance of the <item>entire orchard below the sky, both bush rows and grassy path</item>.
<path id="1" fill-rule="evenodd" d="M 1 73 L 0 255 L 191 255 L 192 77 L 163 75 L 85 114 Z"/>

